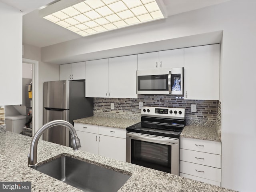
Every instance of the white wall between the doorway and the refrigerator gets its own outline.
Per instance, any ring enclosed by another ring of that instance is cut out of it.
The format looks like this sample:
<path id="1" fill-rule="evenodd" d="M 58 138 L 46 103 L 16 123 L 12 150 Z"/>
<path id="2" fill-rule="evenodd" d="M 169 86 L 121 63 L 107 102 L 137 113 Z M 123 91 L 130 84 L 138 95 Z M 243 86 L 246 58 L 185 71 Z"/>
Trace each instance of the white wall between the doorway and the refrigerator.
<path id="1" fill-rule="evenodd" d="M 43 125 L 43 84 L 45 81 L 55 81 L 60 80 L 60 67 L 59 65 L 49 64 L 46 62 L 41 62 L 41 50 L 38 47 L 24 44 L 24 55 L 23 58 L 37 60 L 39 61 L 38 70 L 38 96 L 39 96 L 39 116 L 38 125 L 35 125 L 35 131 L 38 130 Z"/>

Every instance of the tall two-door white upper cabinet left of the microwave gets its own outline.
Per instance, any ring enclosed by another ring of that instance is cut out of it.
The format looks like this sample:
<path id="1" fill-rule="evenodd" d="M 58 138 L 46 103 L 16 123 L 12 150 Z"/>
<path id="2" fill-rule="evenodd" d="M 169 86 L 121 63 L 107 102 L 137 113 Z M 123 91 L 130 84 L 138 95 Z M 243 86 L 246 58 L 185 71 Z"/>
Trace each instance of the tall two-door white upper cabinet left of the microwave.
<path id="1" fill-rule="evenodd" d="M 137 98 L 137 55 L 86 61 L 86 97 Z"/>

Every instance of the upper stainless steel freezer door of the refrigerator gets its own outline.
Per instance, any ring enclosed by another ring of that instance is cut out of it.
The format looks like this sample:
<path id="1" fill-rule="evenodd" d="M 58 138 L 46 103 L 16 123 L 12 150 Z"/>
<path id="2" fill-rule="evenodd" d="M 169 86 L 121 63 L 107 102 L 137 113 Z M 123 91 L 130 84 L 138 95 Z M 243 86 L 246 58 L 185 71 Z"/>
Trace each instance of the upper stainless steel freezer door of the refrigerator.
<path id="1" fill-rule="evenodd" d="M 69 109 L 69 81 L 44 82 L 44 108 Z"/>

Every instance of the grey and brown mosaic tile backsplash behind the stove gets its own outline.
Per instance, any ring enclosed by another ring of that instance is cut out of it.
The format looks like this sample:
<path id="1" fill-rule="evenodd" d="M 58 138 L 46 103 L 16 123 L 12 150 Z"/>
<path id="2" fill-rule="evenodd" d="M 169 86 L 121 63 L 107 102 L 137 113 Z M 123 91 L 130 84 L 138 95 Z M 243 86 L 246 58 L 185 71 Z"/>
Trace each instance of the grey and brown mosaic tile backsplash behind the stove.
<path id="1" fill-rule="evenodd" d="M 144 106 L 185 108 L 186 120 L 214 121 L 220 126 L 220 102 L 218 100 L 185 100 L 173 95 L 139 95 L 131 98 L 94 98 L 94 114 L 99 112 L 140 115 L 139 102 Z M 110 109 L 114 103 L 114 110 Z M 196 104 L 197 112 L 191 112 Z"/>

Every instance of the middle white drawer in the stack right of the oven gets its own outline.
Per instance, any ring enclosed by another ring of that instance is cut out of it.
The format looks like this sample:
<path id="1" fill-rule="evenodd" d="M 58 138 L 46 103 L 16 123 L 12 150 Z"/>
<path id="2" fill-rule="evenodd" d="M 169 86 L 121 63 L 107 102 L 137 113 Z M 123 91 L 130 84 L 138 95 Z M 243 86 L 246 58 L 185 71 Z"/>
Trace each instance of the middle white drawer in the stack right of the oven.
<path id="1" fill-rule="evenodd" d="M 186 149 L 180 149 L 180 160 L 202 164 L 206 166 L 221 168 L 221 157 L 220 155 L 204 153 Z"/>

